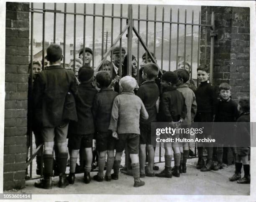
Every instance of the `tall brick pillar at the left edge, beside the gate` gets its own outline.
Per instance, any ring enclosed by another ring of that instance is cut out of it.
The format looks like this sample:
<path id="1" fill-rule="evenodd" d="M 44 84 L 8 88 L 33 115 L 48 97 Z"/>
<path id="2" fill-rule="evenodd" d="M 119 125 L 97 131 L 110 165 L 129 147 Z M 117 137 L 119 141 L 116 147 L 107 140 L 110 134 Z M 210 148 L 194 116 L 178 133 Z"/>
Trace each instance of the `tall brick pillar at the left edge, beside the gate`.
<path id="1" fill-rule="evenodd" d="M 6 3 L 3 189 L 25 186 L 29 3 Z"/>

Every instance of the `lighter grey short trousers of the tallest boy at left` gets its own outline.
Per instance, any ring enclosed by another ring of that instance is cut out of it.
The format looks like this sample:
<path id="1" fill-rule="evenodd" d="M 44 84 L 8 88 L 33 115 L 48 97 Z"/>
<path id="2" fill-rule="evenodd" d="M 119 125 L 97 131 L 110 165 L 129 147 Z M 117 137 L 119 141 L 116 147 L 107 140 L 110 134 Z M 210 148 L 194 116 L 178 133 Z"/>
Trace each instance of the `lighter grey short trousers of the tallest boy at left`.
<path id="1" fill-rule="evenodd" d="M 44 142 L 66 142 L 69 124 L 57 127 L 43 127 L 41 135 Z M 55 140 L 55 141 L 54 141 Z"/>

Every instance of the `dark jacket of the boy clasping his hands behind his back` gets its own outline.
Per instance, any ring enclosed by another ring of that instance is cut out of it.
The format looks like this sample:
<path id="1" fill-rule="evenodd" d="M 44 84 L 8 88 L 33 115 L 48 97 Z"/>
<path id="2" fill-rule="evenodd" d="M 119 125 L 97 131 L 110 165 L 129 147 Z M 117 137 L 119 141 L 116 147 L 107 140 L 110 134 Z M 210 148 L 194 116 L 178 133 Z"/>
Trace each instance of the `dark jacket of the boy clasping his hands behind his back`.
<path id="1" fill-rule="evenodd" d="M 181 92 L 174 87 L 163 89 L 160 95 L 159 119 L 163 122 L 177 122 L 187 115 L 187 106 L 185 98 Z"/>

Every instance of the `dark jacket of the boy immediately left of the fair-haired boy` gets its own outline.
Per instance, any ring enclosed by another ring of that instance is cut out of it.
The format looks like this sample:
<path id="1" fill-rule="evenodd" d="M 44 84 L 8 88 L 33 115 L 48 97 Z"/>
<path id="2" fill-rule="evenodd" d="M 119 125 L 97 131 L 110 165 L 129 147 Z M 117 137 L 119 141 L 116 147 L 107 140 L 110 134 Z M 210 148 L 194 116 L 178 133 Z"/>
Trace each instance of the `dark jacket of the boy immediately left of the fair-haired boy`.
<path id="1" fill-rule="evenodd" d="M 111 88 L 101 89 L 96 94 L 92 107 L 96 132 L 108 132 L 112 105 L 117 95 Z"/>

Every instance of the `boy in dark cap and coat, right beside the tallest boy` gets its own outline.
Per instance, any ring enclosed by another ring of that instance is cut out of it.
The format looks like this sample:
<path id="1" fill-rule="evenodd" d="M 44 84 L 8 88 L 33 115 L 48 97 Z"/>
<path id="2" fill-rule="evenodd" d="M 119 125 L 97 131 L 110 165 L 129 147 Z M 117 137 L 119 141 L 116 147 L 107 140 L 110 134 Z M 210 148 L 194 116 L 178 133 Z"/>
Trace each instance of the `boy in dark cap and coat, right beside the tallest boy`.
<path id="1" fill-rule="evenodd" d="M 92 115 L 92 104 L 97 90 L 92 86 L 94 80 L 94 70 L 82 67 L 78 72 L 78 79 L 81 82 L 78 87 L 77 122 L 71 122 L 69 126 L 68 147 L 70 152 L 70 172 L 69 183 L 74 184 L 75 167 L 80 145 L 84 148 L 84 183 L 91 181 L 90 171 L 92 169 L 92 139 L 94 136 L 94 122 Z"/>

